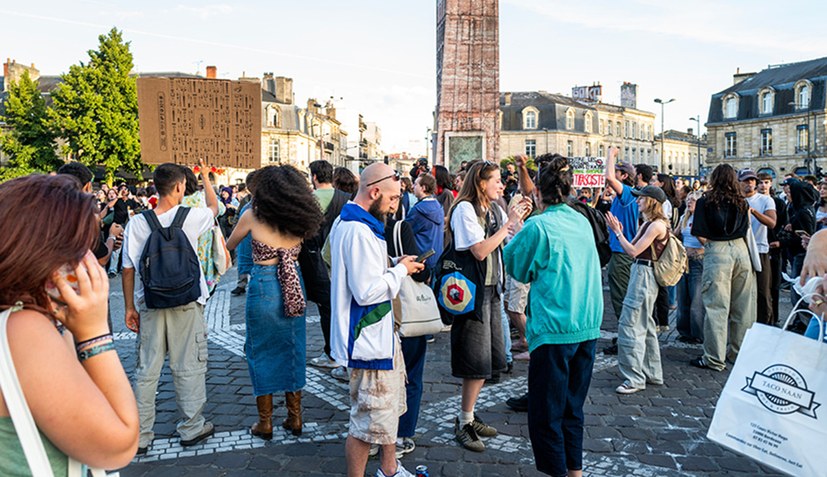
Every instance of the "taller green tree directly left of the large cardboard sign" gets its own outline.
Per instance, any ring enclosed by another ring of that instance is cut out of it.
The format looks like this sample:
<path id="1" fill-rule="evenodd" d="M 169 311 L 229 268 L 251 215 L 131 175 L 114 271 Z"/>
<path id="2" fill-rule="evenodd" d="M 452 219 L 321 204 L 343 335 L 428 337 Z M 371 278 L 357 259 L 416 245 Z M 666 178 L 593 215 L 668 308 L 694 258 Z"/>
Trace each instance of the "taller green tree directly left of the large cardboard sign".
<path id="1" fill-rule="evenodd" d="M 139 175 L 138 92 L 129 43 L 116 28 L 98 37 L 89 62 L 73 65 L 52 92 L 50 118 L 68 151 L 87 166 L 106 167 L 107 180 L 120 167 Z"/>

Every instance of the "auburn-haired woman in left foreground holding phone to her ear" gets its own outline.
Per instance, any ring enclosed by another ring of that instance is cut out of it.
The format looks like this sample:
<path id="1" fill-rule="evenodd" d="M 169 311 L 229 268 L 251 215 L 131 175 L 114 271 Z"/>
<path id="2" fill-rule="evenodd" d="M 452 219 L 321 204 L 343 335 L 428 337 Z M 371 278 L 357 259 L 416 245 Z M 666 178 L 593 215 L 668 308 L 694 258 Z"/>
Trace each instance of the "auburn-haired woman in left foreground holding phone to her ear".
<path id="1" fill-rule="evenodd" d="M 124 467 L 138 448 L 138 409 L 107 323 L 109 280 L 90 252 L 95 197 L 66 175 L 32 175 L 0 184 L 0 203 L 0 310 L 11 310 L 9 351 L 52 471 L 67 475 L 68 457 Z M 7 392 L 0 475 L 31 475 Z"/>

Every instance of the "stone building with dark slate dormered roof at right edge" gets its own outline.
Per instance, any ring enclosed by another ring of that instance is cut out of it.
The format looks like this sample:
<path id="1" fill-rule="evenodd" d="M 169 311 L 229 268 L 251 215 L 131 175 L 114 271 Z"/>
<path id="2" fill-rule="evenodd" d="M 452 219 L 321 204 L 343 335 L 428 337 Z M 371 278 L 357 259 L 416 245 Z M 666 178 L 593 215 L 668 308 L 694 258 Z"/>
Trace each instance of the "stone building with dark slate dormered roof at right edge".
<path id="1" fill-rule="evenodd" d="M 712 95 L 708 163 L 773 176 L 815 172 L 825 157 L 827 58 L 736 72 Z"/>

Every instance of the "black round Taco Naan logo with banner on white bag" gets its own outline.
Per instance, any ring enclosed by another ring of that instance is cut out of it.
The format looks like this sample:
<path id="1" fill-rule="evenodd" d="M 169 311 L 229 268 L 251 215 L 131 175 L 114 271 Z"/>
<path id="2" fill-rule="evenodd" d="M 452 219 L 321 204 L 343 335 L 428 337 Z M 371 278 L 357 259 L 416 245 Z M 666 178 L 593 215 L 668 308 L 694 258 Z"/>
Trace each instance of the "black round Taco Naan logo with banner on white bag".
<path id="1" fill-rule="evenodd" d="M 815 402 L 815 393 L 807 390 L 804 376 L 783 364 L 756 371 L 741 391 L 757 396 L 765 408 L 776 414 L 800 412 L 817 419 L 816 409 L 821 406 Z"/>

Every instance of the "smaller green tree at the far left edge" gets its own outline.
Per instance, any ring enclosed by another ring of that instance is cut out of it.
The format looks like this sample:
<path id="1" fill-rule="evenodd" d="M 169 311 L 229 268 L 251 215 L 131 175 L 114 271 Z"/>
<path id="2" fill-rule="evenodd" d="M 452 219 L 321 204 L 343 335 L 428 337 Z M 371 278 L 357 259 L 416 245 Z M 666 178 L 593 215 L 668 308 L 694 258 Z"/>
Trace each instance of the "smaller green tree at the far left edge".
<path id="1" fill-rule="evenodd" d="M 0 149 L 9 163 L 0 169 L 0 180 L 60 167 L 55 153 L 55 134 L 49 128 L 46 101 L 28 71 L 9 85 L 6 113 L 2 119 L 9 131 L 0 136 Z"/>

